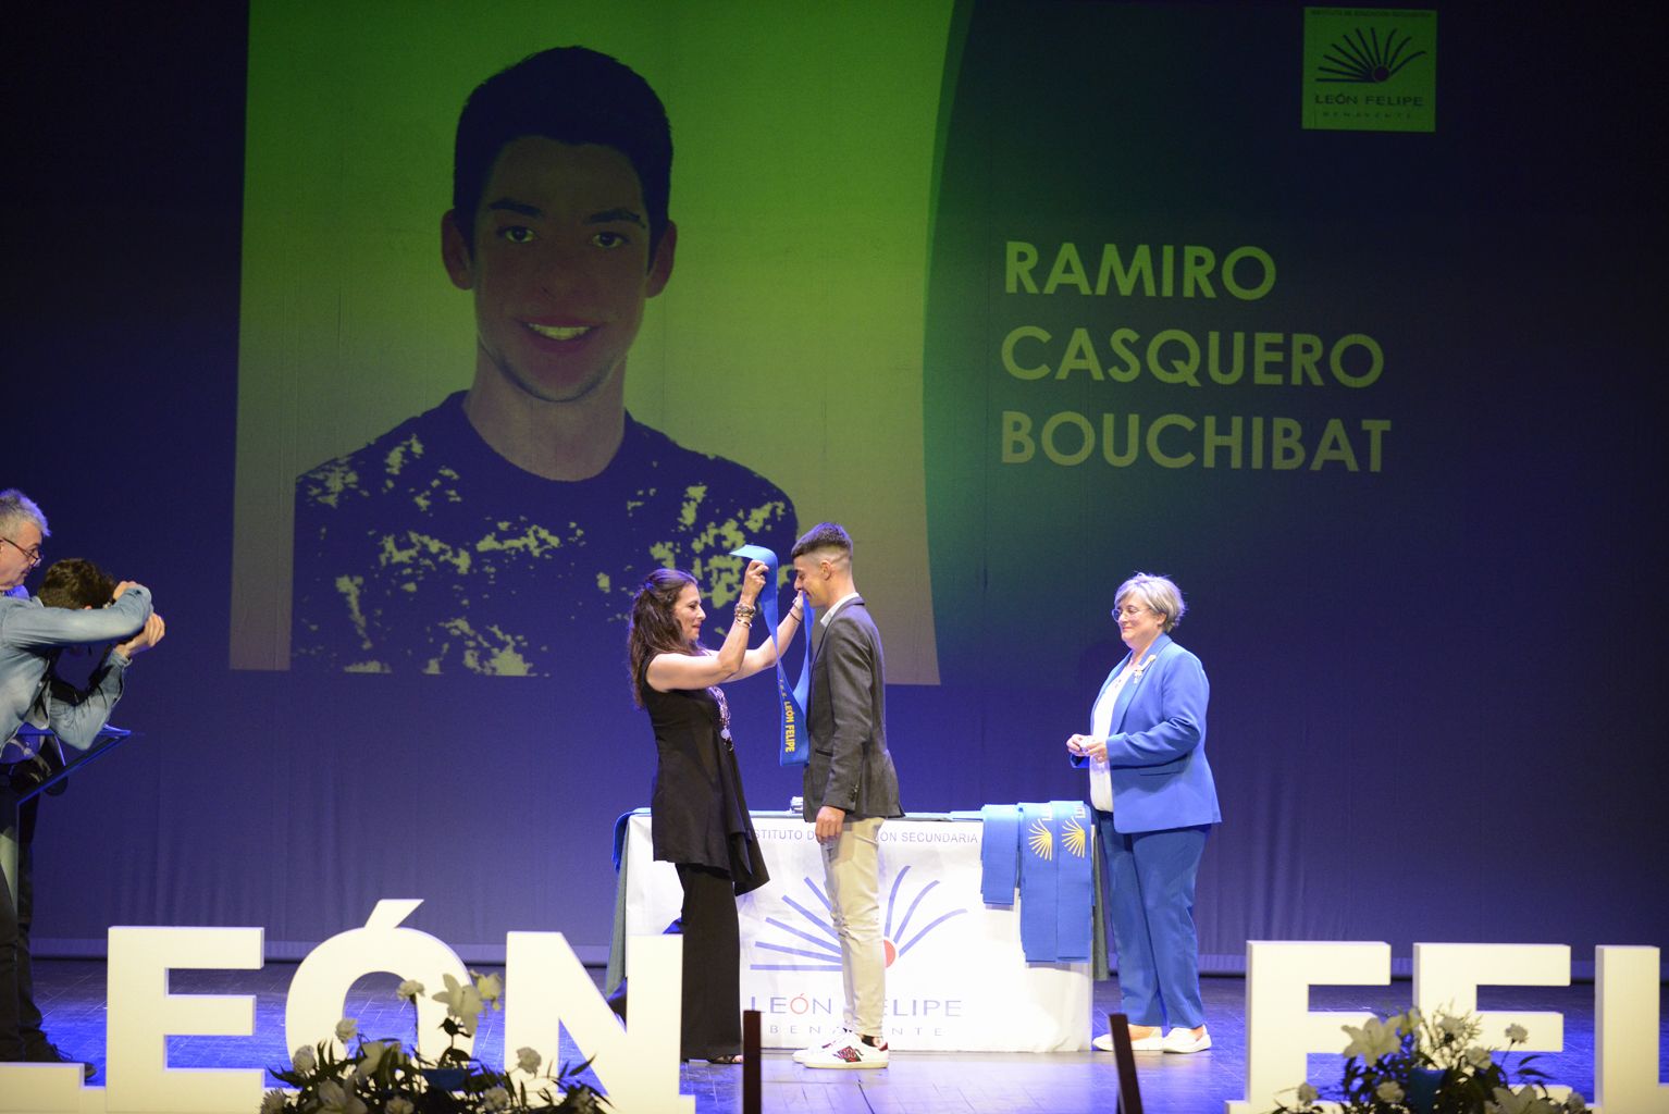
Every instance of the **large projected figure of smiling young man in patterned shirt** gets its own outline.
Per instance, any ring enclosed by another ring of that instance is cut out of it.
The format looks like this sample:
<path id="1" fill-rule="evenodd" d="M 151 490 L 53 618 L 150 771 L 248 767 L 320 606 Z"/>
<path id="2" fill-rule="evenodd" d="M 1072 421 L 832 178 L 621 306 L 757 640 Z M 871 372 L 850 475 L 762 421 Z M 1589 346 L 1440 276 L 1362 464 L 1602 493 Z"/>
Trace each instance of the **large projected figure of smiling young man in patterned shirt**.
<path id="1" fill-rule="evenodd" d="M 297 480 L 295 667 L 556 675 L 619 642 L 649 570 L 723 604 L 731 549 L 788 552 L 779 487 L 626 412 L 671 170 L 661 100 L 608 55 L 544 50 L 471 93 L 441 222 L 471 387 Z"/>

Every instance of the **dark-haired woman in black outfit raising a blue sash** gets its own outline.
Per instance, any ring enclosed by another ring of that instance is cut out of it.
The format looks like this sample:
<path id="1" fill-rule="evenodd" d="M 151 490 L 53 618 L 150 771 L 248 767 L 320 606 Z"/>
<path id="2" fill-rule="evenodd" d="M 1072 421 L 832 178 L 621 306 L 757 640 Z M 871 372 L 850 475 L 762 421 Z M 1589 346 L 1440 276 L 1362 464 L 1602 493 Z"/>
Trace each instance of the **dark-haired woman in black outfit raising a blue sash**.
<path id="1" fill-rule="evenodd" d="M 649 712 L 658 755 L 649 795 L 654 857 L 684 887 L 683 1059 L 741 1062 L 741 934 L 736 894 L 769 881 L 748 819 L 719 684 L 776 664 L 769 640 L 748 649 L 766 567 L 749 562 L 736 617 L 714 652 L 701 645 L 701 589 L 678 569 L 656 569 L 633 600 L 633 699 Z M 799 629 L 801 602 L 776 640 Z"/>

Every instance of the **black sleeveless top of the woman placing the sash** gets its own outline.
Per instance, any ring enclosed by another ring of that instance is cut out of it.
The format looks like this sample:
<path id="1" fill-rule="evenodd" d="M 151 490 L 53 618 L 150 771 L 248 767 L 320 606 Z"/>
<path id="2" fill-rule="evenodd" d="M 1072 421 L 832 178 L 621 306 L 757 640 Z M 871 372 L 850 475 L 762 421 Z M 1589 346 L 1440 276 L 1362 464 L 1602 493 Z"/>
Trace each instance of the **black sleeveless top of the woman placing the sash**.
<path id="1" fill-rule="evenodd" d="M 656 692 L 648 669 L 644 662 L 638 690 L 658 757 L 649 792 L 654 857 L 723 871 L 738 894 L 764 886 L 771 876 L 748 817 L 724 692 L 718 685 Z"/>

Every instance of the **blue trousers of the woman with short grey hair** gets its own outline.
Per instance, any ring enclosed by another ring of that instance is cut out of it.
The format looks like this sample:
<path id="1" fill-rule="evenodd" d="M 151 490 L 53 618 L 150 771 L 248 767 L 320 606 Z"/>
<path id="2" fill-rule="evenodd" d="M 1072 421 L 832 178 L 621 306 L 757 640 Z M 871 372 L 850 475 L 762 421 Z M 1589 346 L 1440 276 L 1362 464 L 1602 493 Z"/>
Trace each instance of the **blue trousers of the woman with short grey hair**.
<path id="1" fill-rule="evenodd" d="M 1113 814 L 1100 810 L 1095 827 L 1107 864 L 1107 916 L 1118 949 L 1123 1012 L 1133 1026 L 1203 1026 L 1193 881 L 1210 829 L 1117 832 Z"/>

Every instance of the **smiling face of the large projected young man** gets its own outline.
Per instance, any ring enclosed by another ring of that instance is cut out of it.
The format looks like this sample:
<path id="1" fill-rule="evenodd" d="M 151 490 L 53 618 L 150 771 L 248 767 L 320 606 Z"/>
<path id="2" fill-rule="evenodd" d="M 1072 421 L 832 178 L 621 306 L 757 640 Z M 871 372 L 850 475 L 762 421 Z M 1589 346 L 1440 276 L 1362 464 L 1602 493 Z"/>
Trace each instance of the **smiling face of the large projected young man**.
<path id="1" fill-rule="evenodd" d="M 676 230 L 651 258 L 649 210 L 613 147 L 524 135 L 499 152 L 476 212 L 474 253 L 452 215 L 442 255 L 476 295 L 479 374 L 546 402 L 618 384 L 643 305 L 673 272 Z"/>

